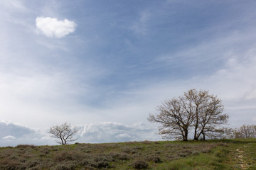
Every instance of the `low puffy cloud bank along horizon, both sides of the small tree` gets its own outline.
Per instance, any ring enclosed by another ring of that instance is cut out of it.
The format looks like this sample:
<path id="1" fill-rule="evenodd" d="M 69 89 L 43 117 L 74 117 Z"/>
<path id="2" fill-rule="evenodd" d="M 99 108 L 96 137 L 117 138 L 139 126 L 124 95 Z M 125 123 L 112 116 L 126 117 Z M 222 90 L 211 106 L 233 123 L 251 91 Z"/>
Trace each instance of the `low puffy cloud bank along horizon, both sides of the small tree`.
<path id="1" fill-rule="evenodd" d="M 77 125 L 80 129 L 78 141 L 80 143 L 103 143 L 103 142 L 128 142 L 143 140 L 161 140 L 156 135 L 155 125 L 135 123 L 124 125 L 115 122 L 91 123 Z M 34 129 L 17 123 L 0 120 L 0 147 L 29 145 L 58 145 L 53 137 L 48 134 L 48 129 Z"/>

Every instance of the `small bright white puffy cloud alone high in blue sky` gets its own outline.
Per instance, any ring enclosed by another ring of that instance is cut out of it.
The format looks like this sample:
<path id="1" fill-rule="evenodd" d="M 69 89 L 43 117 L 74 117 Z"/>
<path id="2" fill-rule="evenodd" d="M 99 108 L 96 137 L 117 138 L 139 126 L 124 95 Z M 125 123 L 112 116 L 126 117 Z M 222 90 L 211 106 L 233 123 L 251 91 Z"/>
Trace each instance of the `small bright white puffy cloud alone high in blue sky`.
<path id="1" fill-rule="evenodd" d="M 65 35 L 73 33 L 75 31 L 76 23 L 64 19 L 63 21 L 57 18 L 50 17 L 37 17 L 36 27 L 41 30 L 41 33 L 47 37 L 63 38 Z"/>

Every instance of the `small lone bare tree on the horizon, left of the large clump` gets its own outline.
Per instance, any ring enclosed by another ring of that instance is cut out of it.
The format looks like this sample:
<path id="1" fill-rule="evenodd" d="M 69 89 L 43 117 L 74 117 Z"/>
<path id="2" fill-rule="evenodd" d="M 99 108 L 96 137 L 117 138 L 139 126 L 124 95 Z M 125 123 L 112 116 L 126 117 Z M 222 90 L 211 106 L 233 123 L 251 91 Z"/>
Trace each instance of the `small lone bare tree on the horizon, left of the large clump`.
<path id="1" fill-rule="evenodd" d="M 66 145 L 68 142 L 78 140 L 78 138 L 73 138 L 77 132 L 78 128 L 72 128 L 68 123 L 64 123 L 63 125 L 55 125 L 48 131 L 48 133 L 51 134 L 51 137 L 55 137 L 60 140 L 56 142 L 61 145 Z"/>

